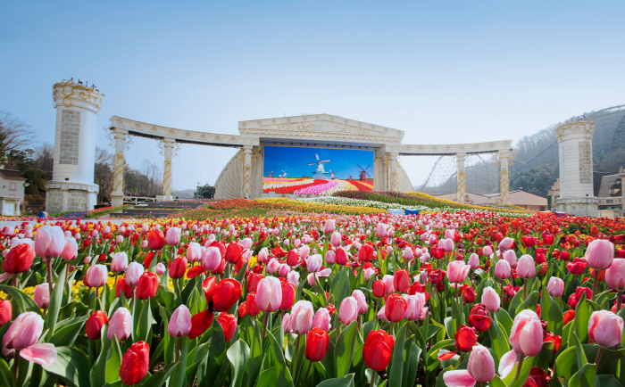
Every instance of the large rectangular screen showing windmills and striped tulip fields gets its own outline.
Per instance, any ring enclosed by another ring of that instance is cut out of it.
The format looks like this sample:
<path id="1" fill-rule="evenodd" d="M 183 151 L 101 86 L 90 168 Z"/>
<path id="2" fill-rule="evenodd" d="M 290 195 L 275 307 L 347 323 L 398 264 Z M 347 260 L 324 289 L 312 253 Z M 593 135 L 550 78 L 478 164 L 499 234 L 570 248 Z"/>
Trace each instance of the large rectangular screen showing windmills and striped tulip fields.
<path id="1" fill-rule="evenodd" d="M 263 193 L 329 195 L 373 189 L 373 151 L 265 146 Z"/>

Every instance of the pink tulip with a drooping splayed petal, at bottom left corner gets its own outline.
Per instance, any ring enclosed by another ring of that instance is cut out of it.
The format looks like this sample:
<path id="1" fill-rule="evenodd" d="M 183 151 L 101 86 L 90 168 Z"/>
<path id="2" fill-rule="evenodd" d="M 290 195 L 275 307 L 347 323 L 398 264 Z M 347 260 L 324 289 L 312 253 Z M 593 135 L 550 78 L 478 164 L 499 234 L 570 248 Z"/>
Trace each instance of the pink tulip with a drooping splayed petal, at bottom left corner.
<path id="1" fill-rule="evenodd" d="M 38 365 L 49 366 L 56 361 L 53 344 L 37 344 L 44 327 L 44 319 L 35 312 L 25 312 L 15 318 L 4 333 L 3 353 L 20 350 L 20 356 Z"/>

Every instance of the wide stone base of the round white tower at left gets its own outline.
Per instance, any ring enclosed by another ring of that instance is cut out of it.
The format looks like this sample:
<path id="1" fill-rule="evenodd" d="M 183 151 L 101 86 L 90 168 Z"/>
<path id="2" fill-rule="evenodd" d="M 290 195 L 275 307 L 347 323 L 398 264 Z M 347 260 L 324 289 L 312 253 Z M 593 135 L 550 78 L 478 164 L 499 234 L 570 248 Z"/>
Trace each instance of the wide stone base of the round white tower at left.
<path id="1" fill-rule="evenodd" d="M 46 184 L 46 212 L 88 211 L 96 206 L 96 184 L 49 181 Z"/>

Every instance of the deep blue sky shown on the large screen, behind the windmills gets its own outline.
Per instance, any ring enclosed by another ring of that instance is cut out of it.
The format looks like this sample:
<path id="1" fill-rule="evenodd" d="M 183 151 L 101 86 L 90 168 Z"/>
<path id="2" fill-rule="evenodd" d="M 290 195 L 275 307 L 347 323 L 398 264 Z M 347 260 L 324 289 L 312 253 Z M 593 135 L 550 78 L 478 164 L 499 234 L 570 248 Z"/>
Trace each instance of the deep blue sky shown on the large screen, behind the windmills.
<path id="1" fill-rule="evenodd" d="M 287 177 L 311 177 L 317 169 L 316 165 L 308 165 L 317 161 L 315 153 L 319 154 L 319 159 L 329 160 L 323 164 L 326 172 L 330 169 L 337 172 L 335 177 L 340 179 L 360 177 L 361 169 L 370 165 L 367 172 L 373 177 L 373 151 L 356 151 L 351 149 L 327 149 L 327 148 L 299 148 L 291 146 L 265 146 L 264 150 L 264 173 L 262 176 L 268 177 L 273 171 L 273 177 L 278 177 L 283 170 L 287 171 Z"/>

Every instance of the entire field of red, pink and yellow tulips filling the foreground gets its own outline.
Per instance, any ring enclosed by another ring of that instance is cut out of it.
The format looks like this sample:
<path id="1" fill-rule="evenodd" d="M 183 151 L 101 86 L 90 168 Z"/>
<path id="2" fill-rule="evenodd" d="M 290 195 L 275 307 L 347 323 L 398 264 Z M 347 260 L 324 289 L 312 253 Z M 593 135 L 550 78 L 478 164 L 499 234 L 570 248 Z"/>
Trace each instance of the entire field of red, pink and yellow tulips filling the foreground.
<path id="1" fill-rule="evenodd" d="M 0 386 L 625 386 L 625 219 L 375 194 L 4 227 Z"/>

